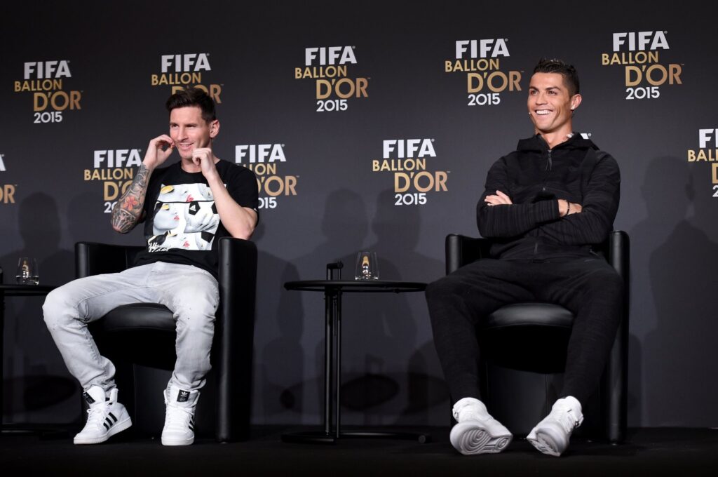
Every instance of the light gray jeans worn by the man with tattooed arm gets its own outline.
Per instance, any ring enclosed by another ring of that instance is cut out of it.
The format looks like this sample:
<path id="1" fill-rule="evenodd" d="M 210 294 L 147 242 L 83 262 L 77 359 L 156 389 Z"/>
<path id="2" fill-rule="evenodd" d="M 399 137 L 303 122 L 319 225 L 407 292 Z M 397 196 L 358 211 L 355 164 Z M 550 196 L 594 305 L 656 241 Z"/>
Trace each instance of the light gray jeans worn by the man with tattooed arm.
<path id="1" fill-rule="evenodd" d="M 200 268 L 162 261 L 76 279 L 47 295 L 42 306 L 45 323 L 70 374 L 83 389 L 96 385 L 107 391 L 115 386 L 115 366 L 101 356 L 88 323 L 115 307 L 138 302 L 160 303 L 172 311 L 177 361 L 169 384 L 187 391 L 200 389 L 211 367 L 217 280 Z"/>

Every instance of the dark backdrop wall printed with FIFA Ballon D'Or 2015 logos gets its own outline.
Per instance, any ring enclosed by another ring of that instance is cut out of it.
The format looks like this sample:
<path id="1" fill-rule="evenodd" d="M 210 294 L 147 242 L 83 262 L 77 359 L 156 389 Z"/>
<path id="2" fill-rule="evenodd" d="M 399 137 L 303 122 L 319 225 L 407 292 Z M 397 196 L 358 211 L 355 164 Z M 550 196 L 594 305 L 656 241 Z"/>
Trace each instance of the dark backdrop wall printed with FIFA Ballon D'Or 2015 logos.
<path id="1" fill-rule="evenodd" d="M 691 160 L 718 147 L 715 14 L 694 1 L 13 2 L 0 19 L 5 280 L 21 255 L 60 284 L 75 241 L 139 243 L 139 231 L 113 233 L 106 211 L 167 131 L 166 83 L 205 85 L 219 99 L 216 152 L 259 165 L 262 184 L 253 421 L 318 422 L 322 297 L 282 284 L 321 278 L 336 259 L 347 277 L 361 249 L 386 279 L 441 276 L 444 236 L 477 235 L 488 167 L 531 134 L 531 68 L 562 57 L 582 79 L 574 126 L 623 173 L 629 423 L 717 426 L 718 177 L 715 162 Z M 474 71 L 447 72 L 457 42 Z M 41 304 L 6 305 L 6 421 L 79 412 Z M 423 297 L 347 296 L 344 312 L 344 421 L 447 422 Z"/>

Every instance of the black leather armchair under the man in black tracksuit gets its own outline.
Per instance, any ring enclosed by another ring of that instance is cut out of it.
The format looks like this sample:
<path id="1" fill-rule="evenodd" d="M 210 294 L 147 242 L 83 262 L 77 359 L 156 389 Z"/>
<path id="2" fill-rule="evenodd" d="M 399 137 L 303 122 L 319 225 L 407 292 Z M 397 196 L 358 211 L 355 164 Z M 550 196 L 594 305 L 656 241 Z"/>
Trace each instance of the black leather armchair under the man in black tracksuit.
<path id="1" fill-rule="evenodd" d="M 487 257 L 489 245 L 485 238 L 447 236 L 447 274 Z M 582 403 L 587 417 L 583 428 L 598 428 L 611 443 L 619 443 L 625 437 L 627 423 L 628 234 L 611 232 L 595 251 L 605 256 L 623 278 L 625 300 L 600 390 L 589 403 Z M 528 433 L 550 412 L 561 386 L 573 319 L 574 315 L 559 305 L 516 303 L 493 312 L 479 330 L 482 399 L 489 412 L 512 432 Z M 596 420 L 595 415 L 601 418 Z"/>

